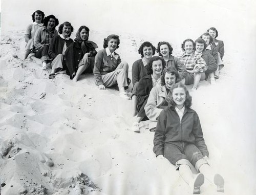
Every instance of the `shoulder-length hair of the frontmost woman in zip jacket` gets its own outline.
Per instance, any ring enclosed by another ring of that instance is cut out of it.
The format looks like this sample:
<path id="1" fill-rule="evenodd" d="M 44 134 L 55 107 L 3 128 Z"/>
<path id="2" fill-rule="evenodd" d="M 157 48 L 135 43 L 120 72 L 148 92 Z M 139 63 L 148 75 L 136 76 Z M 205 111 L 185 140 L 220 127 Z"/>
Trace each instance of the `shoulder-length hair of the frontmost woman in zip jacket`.
<path id="1" fill-rule="evenodd" d="M 186 99 L 185 99 L 185 102 L 184 102 L 184 106 L 188 109 L 192 104 L 192 97 L 189 95 L 186 86 L 182 82 L 175 83 L 170 88 L 170 92 L 169 92 L 169 94 L 166 98 L 166 101 L 168 102 L 169 107 L 174 109 L 175 106 L 176 106 L 176 103 L 174 102 L 174 99 L 173 99 L 173 91 L 176 88 L 183 88 L 184 89 L 185 94 L 186 94 Z"/>

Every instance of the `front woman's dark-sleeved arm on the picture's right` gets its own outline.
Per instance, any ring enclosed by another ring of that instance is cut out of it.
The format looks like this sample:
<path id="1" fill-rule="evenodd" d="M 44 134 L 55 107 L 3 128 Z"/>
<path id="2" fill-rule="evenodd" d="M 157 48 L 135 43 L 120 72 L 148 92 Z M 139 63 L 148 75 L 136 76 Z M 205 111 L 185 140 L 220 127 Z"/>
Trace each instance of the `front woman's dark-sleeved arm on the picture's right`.
<path id="1" fill-rule="evenodd" d="M 202 127 L 201 127 L 200 120 L 199 120 L 199 117 L 198 117 L 196 112 L 194 113 L 193 134 L 195 136 L 195 145 L 201 151 L 203 156 L 208 157 L 209 156 L 209 151 L 208 151 L 207 146 L 204 142 Z"/>

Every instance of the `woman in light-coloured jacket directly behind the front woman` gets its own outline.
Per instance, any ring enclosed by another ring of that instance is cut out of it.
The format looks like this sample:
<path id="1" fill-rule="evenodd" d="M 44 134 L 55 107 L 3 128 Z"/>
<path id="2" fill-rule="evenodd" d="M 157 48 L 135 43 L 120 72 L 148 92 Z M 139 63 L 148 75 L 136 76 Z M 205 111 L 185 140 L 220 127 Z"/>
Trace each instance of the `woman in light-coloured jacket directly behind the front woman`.
<path id="1" fill-rule="evenodd" d="M 166 67 L 161 76 L 161 86 L 157 85 L 152 88 L 150 96 L 144 107 L 148 119 L 157 122 L 159 114 L 168 106 L 166 98 L 173 84 L 180 81 L 179 73 L 173 67 Z M 155 127 L 155 123 L 151 123 Z"/>

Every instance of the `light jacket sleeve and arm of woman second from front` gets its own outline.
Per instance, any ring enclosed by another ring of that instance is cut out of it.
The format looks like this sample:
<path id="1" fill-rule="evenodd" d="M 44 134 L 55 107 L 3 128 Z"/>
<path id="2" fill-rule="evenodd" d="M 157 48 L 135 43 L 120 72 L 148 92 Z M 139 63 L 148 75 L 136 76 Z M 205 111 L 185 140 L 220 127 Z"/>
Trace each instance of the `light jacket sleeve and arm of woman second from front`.
<path id="1" fill-rule="evenodd" d="M 159 109 L 157 106 L 158 90 L 156 87 L 152 88 L 150 96 L 148 96 L 147 103 L 144 107 L 146 116 L 151 121 L 157 121 L 160 113 L 163 109 Z"/>

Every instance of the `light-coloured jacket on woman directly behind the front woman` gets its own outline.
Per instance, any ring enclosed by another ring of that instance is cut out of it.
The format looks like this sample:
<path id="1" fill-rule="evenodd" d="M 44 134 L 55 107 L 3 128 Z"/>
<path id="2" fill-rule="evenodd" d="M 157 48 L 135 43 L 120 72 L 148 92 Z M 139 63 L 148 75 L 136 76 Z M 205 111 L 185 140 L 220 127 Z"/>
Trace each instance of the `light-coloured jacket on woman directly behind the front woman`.
<path id="1" fill-rule="evenodd" d="M 154 86 L 144 107 L 146 116 L 151 121 L 157 121 L 159 114 L 164 109 L 162 106 L 167 97 L 165 86 Z M 167 107 L 167 106 L 166 106 Z"/>

